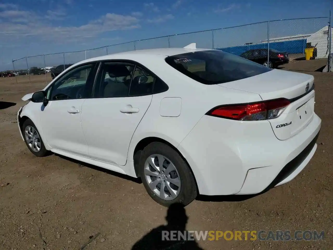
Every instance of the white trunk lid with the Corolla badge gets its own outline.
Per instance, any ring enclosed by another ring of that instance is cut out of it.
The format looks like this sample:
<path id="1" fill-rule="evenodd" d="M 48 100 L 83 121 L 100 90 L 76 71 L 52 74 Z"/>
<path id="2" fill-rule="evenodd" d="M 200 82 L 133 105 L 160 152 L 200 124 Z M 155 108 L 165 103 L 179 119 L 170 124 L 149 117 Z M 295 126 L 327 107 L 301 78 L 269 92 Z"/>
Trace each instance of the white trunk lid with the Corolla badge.
<path id="1" fill-rule="evenodd" d="M 286 140 L 302 131 L 313 119 L 314 77 L 274 69 L 246 79 L 218 84 L 223 87 L 259 94 L 263 100 L 286 98 L 290 104 L 275 119 L 268 120 L 275 136 Z"/>

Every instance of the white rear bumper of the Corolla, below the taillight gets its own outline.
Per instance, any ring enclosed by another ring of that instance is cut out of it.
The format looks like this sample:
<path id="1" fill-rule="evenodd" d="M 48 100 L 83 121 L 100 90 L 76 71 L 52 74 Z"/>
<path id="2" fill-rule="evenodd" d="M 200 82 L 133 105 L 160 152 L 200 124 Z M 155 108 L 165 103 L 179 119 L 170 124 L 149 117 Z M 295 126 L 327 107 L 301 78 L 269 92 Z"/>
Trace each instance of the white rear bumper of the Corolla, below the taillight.
<path id="1" fill-rule="evenodd" d="M 179 144 L 203 195 L 257 194 L 292 180 L 314 155 L 321 119 L 278 140 L 268 121 L 204 116 Z"/>

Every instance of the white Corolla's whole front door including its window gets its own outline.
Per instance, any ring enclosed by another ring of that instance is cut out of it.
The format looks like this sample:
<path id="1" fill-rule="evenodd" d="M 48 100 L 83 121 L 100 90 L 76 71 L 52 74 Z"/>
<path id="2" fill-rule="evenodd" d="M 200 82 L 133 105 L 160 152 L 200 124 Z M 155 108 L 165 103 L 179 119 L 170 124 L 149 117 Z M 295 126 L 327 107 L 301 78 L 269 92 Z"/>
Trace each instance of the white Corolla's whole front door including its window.
<path id="1" fill-rule="evenodd" d="M 81 126 L 81 108 L 91 96 L 95 63 L 72 69 L 47 90 L 48 104 L 42 106 L 40 122 L 53 149 L 88 156 Z"/>

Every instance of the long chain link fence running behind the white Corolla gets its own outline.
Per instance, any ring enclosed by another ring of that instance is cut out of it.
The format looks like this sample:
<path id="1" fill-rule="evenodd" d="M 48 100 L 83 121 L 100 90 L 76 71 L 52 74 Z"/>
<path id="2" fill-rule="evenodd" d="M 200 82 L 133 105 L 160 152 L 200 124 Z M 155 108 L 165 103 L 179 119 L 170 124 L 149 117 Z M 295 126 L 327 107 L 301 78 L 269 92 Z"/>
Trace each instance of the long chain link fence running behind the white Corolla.
<path id="1" fill-rule="evenodd" d="M 265 21 L 136 40 L 84 51 L 29 56 L 13 60 L 13 68 L 17 82 L 31 83 L 31 76 L 45 74 L 45 82 L 48 83 L 52 80 L 51 68 L 59 65 L 66 68 L 67 64 L 93 57 L 139 49 L 184 47 L 193 42 L 198 48 L 222 50 L 272 67 L 275 59 L 283 61 L 290 55 L 302 59 L 304 50 L 309 46 L 315 48 L 314 57 L 327 57 L 330 54 L 330 25 L 330 17 Z"/>

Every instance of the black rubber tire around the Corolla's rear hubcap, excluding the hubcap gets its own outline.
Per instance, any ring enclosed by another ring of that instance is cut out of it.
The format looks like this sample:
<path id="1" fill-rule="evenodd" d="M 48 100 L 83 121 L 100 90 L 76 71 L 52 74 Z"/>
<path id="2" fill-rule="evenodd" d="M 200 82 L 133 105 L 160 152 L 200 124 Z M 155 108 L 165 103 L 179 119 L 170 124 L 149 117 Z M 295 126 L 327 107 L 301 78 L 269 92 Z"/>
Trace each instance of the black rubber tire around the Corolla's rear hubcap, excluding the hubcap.
<path id="1" fill-rule="evenodd" d="M 173 200 L 164 200 L 160 198 L 148 185 L 144 174 L 145 162 L 149 156 L 154 154 L 163 155 L 169 159 L 177 169 L 178 177 L 180 179 L 180 191 L 178 196 Z M 142 150 L 139 161 L 139 175 L 148 194 L 162 206 L 169 207 L 173 203 L 181 203 L 186 206 L 197 196 L 195 179 L 189 166 L 178 152 L 162 142 L 152 142 Z"/>

